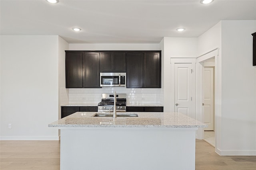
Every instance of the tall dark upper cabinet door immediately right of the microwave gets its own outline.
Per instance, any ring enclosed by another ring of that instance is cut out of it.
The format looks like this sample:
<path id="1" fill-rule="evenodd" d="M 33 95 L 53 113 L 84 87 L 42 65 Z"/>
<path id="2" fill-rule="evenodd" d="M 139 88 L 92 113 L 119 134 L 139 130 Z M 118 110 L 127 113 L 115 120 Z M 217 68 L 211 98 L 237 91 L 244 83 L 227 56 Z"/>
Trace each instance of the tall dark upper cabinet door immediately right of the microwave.
<path id="1" fill-rule="evenodd" d="M 126 88 L 142 88 L 144 53 L 127 53 L 126 61 Z"/>

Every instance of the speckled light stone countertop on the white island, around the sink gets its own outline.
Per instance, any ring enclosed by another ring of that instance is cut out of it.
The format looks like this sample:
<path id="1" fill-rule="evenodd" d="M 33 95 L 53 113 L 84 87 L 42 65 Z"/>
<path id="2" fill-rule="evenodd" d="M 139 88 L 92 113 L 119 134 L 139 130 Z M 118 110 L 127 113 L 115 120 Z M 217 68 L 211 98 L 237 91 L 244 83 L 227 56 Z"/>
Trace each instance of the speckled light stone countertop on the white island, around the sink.
<path id="1" fill-rule="evenodd" d="M 138 114 L 138 117 L 93 117 L 97 112 L 76 112 L 48 127 L 208 127 L 182 113 L 169 112 L 118 112 L 117 114 Z"/>

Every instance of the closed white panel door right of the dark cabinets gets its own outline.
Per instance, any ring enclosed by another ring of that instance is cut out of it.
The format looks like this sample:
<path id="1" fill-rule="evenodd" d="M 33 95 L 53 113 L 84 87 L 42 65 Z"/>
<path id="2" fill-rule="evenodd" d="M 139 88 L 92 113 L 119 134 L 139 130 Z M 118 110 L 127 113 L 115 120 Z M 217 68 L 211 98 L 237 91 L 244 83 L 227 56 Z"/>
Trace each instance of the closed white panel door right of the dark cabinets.
<path id="1" fill-rule="evenodd" d="M 174 96 L 175 112 L 183 113 L 189 117 L 192 106 L 192 68 L 191 63 L 175 63 L 174 68 Z"/>

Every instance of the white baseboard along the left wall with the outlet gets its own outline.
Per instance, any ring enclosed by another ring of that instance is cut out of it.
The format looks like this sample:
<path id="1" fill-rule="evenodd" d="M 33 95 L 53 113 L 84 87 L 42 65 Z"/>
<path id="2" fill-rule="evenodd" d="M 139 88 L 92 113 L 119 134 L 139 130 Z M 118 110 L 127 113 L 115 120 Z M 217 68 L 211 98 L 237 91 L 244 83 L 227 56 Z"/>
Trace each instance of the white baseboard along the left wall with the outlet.
<path id="1" fill-rule="evenodd" d="M 0 136 L 1 141 L 58 141 L 60 136 Z"/>

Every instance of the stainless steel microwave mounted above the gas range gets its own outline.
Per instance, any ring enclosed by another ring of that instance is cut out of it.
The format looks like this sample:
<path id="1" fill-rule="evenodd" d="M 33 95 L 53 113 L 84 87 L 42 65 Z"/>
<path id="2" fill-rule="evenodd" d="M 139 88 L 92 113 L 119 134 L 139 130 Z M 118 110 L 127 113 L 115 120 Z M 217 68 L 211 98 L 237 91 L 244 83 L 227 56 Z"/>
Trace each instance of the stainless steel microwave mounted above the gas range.
<path id="1" fill-rule="evenodd" d="M 101 72 L 100 87 L 126 87 L 126 72 Z"/>

